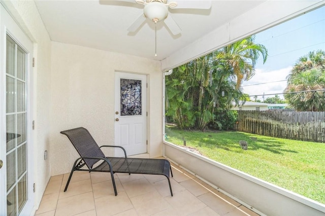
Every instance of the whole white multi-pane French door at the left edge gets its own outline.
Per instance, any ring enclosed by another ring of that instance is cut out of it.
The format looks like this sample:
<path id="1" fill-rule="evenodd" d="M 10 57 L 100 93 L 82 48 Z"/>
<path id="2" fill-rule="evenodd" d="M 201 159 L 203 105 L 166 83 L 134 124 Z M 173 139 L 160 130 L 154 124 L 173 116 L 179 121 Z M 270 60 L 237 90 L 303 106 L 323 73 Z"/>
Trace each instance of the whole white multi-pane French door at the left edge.
<path id="1" fill-rule="evenodd" d="M 0 215 L 29 215 L 34 207 L 28 127 L 32 43 L 0 7 Z"/>

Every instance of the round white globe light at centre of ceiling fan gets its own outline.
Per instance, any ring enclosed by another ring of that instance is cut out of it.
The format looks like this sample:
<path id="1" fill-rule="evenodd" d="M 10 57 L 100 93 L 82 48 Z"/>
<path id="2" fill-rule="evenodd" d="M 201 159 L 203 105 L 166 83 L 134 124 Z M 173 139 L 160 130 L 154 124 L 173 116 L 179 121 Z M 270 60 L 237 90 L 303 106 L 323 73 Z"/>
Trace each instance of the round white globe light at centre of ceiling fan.
<path id="1" fill-rule="evenodd" d="M 151 2 L 144 7 L 144 16 L 153 22 L 159 22 L 168 16 L 168 5 L 160 2 Z"/>

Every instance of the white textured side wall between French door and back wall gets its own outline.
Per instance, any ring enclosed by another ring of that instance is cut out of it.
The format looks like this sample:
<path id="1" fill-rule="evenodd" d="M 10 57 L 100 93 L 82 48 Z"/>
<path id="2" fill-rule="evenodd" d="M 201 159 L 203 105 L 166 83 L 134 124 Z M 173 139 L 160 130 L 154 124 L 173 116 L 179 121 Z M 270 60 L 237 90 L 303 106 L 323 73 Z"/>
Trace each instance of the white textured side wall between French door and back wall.
<path id="1" fill-rule="evenodd" d="M 50 178 L 50 163 L 49 160 L 44 160 L 44 151 L 49 150 L 51 40 L 34 1 L 4 1 L 3 4 L 34 43 L 33 56 L 36 65 L 32 71 L 34 74 L 32 120 L 36 122 L 36 129 L 33 131 L 34 142 L 30 145 L 33 147 L 35 205 L 38 207 Z"/>

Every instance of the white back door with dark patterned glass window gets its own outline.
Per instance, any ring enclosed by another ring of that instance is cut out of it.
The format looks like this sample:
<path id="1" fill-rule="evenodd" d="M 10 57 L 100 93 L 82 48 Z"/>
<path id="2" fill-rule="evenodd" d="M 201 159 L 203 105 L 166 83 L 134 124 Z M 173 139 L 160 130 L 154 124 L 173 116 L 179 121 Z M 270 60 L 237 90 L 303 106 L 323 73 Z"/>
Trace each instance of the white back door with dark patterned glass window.
<path id="1" fill-rule="evenodd" d="M 146 75 L 115 73 L 115 146 L 127 155 L 147 153 Z M 115 150 L 115 156 L 123 152 Z"/>

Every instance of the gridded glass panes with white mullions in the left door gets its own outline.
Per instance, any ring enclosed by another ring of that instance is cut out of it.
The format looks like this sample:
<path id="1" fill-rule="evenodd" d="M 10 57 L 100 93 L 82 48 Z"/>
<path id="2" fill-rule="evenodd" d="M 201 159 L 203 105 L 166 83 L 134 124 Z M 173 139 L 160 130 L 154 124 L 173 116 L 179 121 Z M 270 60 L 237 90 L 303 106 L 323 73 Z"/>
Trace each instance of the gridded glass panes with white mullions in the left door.
<path id="1" fill-rule="evenodd" d="M 6 40 L 7 215 L 19 215 L 28 198 L 27 53 Z"/>

